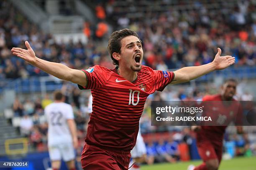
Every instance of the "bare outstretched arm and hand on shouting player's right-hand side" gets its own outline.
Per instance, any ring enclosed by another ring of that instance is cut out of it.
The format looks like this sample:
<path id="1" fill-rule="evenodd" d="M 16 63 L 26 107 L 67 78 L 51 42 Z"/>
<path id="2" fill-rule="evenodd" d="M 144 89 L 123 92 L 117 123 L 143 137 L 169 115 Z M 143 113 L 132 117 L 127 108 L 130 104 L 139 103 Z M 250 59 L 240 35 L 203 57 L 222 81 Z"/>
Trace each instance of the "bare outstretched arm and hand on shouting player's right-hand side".
<path id="1" fill-rule="evenodd" d="M 230 55 L 220 56 L 221 50 L 218 48 L 218 52 L 212 62 L 193 67 L 183 67 L 177 71 L 174 71 L 175 77 L 170 84 L 177 84 L 181 82 L 187 82 L 194 80 L 202 75 L 205 75 L 214 70 L 222 70 L 235 63 L 235 57 Z"/>

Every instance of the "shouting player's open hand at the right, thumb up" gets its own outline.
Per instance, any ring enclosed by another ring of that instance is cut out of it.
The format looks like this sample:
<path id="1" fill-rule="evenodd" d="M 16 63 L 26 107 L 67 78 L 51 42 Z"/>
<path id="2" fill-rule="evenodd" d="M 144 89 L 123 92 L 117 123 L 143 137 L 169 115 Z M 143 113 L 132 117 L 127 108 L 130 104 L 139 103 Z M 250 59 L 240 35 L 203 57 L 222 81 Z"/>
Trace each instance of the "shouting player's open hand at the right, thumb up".
<path id="1" fill-rule="evenodd" d="M 220 56 L 220 55 L 221 55 L 221 50 L 220 48 L 218 48 L 218 52 L 215 55 L 214 60 L 212 61 L 215 64 L 215 70 L 222 70 L 235 63 L 235 57 L 232 57 L 230 55 L 226 55 L 226 56 Z"/>

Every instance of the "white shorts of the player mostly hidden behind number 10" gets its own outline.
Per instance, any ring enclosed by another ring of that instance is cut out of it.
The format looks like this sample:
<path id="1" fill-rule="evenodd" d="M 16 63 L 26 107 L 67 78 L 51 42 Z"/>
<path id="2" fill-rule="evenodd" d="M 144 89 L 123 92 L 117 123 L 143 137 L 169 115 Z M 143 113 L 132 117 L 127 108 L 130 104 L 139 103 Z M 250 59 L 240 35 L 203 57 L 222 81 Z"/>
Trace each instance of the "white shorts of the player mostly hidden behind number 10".
<path id="1" fill-rule="evenodd" d="M 147 153 L 146 145 L 141 136 L 141 132 L 139 131 L 138 136 L 137 136 L 136 145 L 131 150 L 131 158 L 141 158 L 142 155 L 144 155 L 146 153 Z"/>

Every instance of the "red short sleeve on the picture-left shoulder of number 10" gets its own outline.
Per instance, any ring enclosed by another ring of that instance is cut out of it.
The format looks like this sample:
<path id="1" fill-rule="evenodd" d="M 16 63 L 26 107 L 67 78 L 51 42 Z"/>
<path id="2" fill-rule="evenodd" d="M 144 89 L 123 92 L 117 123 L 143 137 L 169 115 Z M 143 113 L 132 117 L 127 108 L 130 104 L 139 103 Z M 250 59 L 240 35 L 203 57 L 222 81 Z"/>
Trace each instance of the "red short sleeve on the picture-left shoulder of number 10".
<path id="1" fill-rule="evenodd" d="M 78 85 L 80 90 L 98 89 L 106 82 L 106 72 L 99 65 L 82 70 L 87 80 L 87 86 Z"/>

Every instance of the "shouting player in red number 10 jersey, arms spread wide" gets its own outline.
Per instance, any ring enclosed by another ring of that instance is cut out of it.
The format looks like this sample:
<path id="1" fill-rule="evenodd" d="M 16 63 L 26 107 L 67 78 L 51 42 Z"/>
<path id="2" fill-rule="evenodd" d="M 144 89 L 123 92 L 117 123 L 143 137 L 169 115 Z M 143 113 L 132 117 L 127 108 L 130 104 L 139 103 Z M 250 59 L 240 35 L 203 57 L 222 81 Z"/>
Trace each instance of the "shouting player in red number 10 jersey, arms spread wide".
<path id="1" fill-rule="evenodd" d="M 80 89 L 91 89 L 92 114 L 81 158 L 82 167 L 87 170 L 128 169 L 148 95 L 164 90 L 168 84 L 187 82 L 235 62 L 235 57 L 220 56 L 218 48 L 215 59 L 208 64 L 174 72 L 153 70 L 141 65 L 142 42 L 129 29 L 110 35 L 108 51 L 117 66 L 112 70 L 100 65 L 87 70 L 71 69 L 36 57 L 28 41 L 25 45 L 27 50 L 14 47 L 13 55 L 55 77 L 78 84 Z"/>

